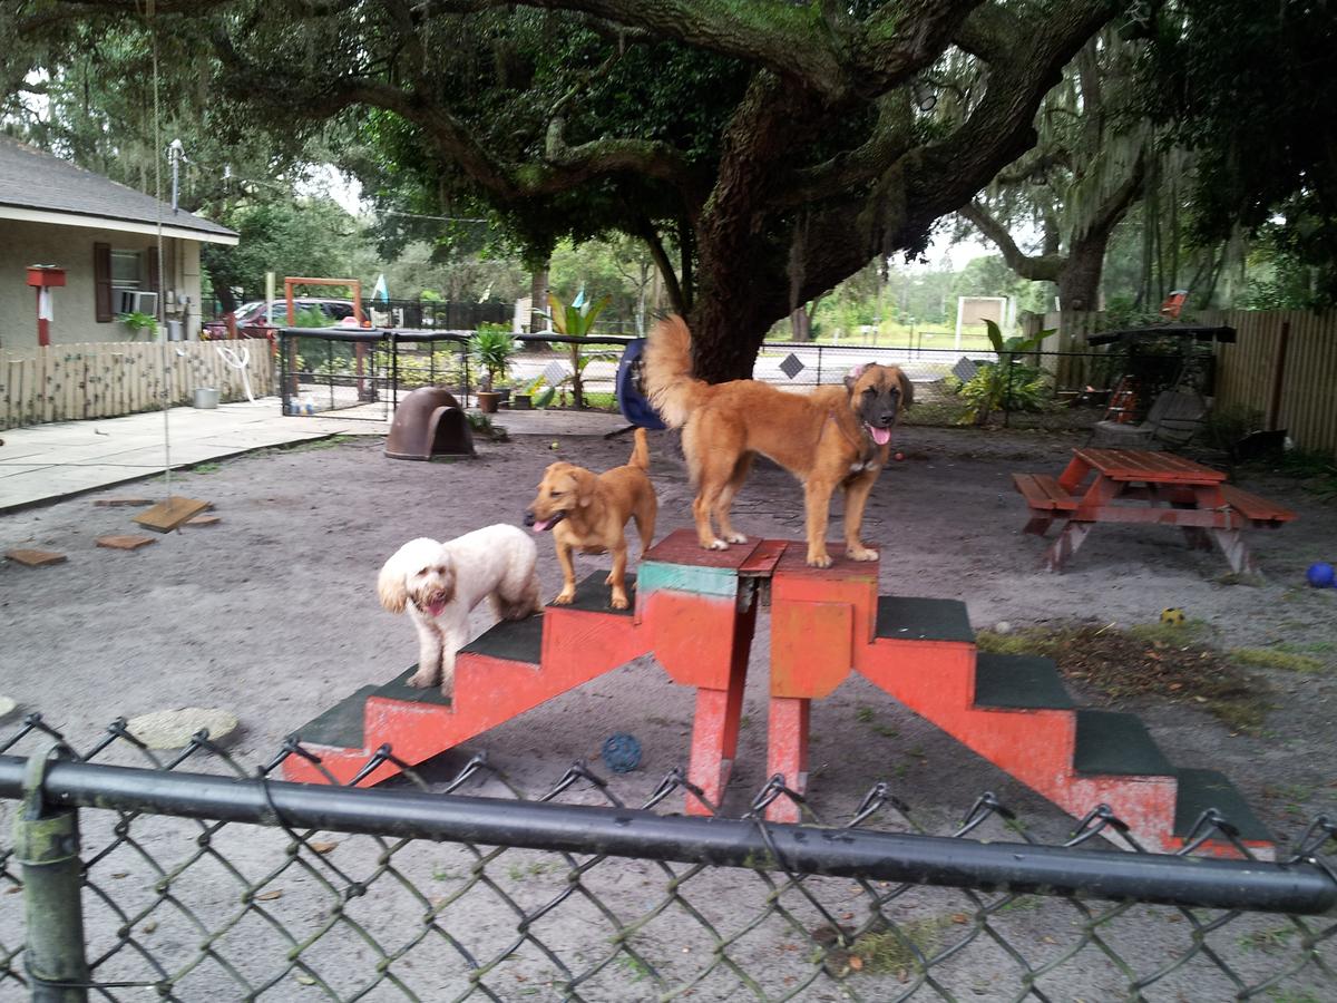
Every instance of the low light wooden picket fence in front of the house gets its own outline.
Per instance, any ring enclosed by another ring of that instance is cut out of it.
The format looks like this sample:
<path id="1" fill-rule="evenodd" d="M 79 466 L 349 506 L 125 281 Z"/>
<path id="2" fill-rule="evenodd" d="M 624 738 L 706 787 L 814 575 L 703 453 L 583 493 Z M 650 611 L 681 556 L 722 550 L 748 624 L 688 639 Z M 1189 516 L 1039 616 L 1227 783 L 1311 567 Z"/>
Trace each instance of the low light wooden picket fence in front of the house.
<path id="1" fill-rule="evenodd" d="M 218 344 L 96 342 L 0 352 L 0 428 L 156 411 L 164 386 L 172 405 L 189 404 L 198 386 L 219 391 L 225 401 L 245 400 L 242 373 L 227 365 Z M 251 392 L 273 393 L 269 342 L 226 346 L 238 353 L 249 349 Z"/>

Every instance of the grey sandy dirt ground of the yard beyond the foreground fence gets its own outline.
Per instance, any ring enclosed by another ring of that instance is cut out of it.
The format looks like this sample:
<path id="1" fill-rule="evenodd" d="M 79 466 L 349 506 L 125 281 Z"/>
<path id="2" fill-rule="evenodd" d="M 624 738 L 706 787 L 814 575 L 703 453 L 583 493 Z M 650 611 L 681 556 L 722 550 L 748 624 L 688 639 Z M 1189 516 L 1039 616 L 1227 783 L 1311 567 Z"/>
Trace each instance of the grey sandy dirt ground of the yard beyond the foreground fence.
<path id="1" fill-rule="evenodd" d="M 1070 568 L 1051 575 L 1039 570 L 1044 544 L 1020 532 L 1027 514 L 1009 475 L 1056 473 L 1080 440 L 912 427 L 897 441 L 906 459 L 882 475 L 865 522 L 865 538 L 882 548 L 882 592 L 963 599 L 976 629 L 1142 625 L 1174 606 L 1203 621 L 1223 647 L 1284 642 L 1313 653 L 1328 671 L 1257 670 L 1259 699 L 1270 707 L 1257 734 L 1233 733 L 1191 703 L 1115 706 L 1142 714 L 1175 765 L 1223 770 L 1282 841 L 1332 806 L 1337 590 L 1305 587 L 1304 572 L 1314 560 L 1337 559 L 1337 507 L 1293 481 L 1245 481 L 1300 514 L 1277 532 L 1250 535 L 1262 583 L 1231 583 L 1219 552 L 1190 551 L 1177 531 L 1143 527 L 1099 527 Z M 519 524 L 548 463 L 603 469 L 626 460 L 630 440 L 559 437 L 552 447 L 550 439 L 520 437 L 483 445 L 476 460 L 425 464 L 389 460 L 382 441 L 372 439 L 223 461 L 179 481 L 180 493 L 213 502 L 222 522 L 135 552 L 95 548 L 96 536 L 134 527 L 127 510 L 92 503 L 152 493 L 160 484 L 7 515 L 3 548 L 57 550 L 70 560 L 41 570 L 0 566 L 0 694 L 17 701 L 19 714 L 41 711 L 78 746 L 116 715 L 223 707 L 241 718 L 233 753 L 242 762 L 263 761 L 303 722 L 416 657 L 410 623 L 385 612 L 374 594 L 377 570 L 401 543 L 493 522 Z M 663 535 L 690 524 L 691 488 L 674 436 L 652 436 L 651 452 Z M 800 538 L 801 492 L 789 475 L 759 464 L 734 522 L 750 535 Z M 837 515 L 833 539 L 838 526 Z M 551 542 L 539 543 L 551 596 L 560 572 Z M 583 558 L 578 570 L 604 567 L 607 558 Z M 480 607 L 475 633 L 489 622 Z M 731 814 L 746 809 L 766 778 L 767 630 L 763 615 L 725 805 Z M 1095 693 L 1075 695 L 1111 705 Z M 15 722 L 16 715 L 0 722 L 0 734 Z M 487 749 L 508 776 L 537 792 L 574 760 L 596 762 L 606 736 L 631 732 L 643 765 L 618 784 L 635 802 L 664 770 L 685 764 L 690 726 L 691 694 L 640 659 L 495 729 L 467 752 Z M 826 818 L 849 817 L 874 781 L 888 780 L 929 830 L 948 830 L 983 790 L 1017 808 L 1042 839 L 1060 840 L 1070 826 L 1042 798 L 858 678 L 814 703 L 812 733 L 812 797 Z M 441 757 L 427 774 L 448 776 L 461 761 L 460 753 Z"/>

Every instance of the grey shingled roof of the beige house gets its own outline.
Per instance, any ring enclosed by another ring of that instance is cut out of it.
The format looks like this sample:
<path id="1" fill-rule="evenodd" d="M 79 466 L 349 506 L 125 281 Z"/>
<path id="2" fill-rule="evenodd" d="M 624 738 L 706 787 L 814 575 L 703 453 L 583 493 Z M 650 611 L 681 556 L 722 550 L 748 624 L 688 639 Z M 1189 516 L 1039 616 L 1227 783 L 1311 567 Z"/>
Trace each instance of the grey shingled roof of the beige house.
<path id="1" fill-rule="evenodd" d="M 163 226 L 219 237 L 237 235 L 226 226 L 190 213 L 172 213 L 170 205 L 152 195 L 4 135 L 0 135 L 0 206 L 90 217 L 90 225 L 96 225 L 96 219 L 156 225 L 160 211 Z"/>

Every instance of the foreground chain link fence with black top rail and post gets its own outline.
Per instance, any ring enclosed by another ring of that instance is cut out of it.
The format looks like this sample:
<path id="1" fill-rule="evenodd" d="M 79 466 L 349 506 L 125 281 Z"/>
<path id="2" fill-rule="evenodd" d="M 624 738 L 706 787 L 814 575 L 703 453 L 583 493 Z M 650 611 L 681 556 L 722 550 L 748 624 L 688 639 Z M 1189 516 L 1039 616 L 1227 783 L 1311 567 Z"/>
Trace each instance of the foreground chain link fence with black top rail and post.
<path id="1" fill-rule="evenodd" d="M 544 792 L 485 756 L 366 790 L 278 781 L 293 756 L 316 758 L 294 736 L 249 769 L 207 733 L 163 756 L 124 721 L 76 752 L 24 718 L 0 738 L 0 999 L 1337 996 L 1326 817 L 1246 863 L 1203 855 L 1249 856 L 1215 812 L 1166 856 L 1103 806 L 1040 845 L 988 793 L 929 833 L 886 784 L 842 818 L 779 778 L 698 818 L 677 770 L 631 806 L 583 762 Z M 805 825 L 763 821 L 786 797 Z"/>

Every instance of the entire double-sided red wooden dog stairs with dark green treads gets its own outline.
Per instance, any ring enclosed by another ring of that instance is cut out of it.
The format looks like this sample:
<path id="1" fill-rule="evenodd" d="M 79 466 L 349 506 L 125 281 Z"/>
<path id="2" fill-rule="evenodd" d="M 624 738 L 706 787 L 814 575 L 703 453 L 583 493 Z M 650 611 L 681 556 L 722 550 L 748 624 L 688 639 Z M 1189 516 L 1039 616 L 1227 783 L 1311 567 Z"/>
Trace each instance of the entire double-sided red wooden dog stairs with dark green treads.
<path id="1" fill-rule="evenodd" d="M 652 653 L 675 682 L 697 687 L 689 778 L 718 805 L 738 742 L 757 606 L 769 586 L 767 773 L 790 788 L 808 786 L 812 701 L 857 671 L 1070 814 L 1110 805 L 1148 849 L 1179 848 L 1202 812 L 1215 808 L 1241 841 L 1261 856 L 1270 852 L 1270 834 L 1222 774 L 1175 769 L 1131 714 L 1076 707 L 1052 661 L 980 653 L 964 603 L 880 596 L 876 562 L 830 550 L 836 563 L 816 570 L 804 563 L 802 543 L 703 551 L 693 534 L 678 531 L 642 560 L 635 611 L 610 610 L 604 572 L 596 572 L 572 606 L 497 623 L 467 645 L 456 662 L 456 702 L 410 689 L 409 669 L 384 686 L 361 687 L 297 734 L 324 770 L 349 782 L 381 745 L 420 764 Z M 326 782 L 298 756 L 285 772 Z M 384 762 L 358 782 L 396 772 Z M 686 808 L 711 810 L 693 796 Z M 797 814 L 787 798 L 767 812 L 775 821 Z"/>

